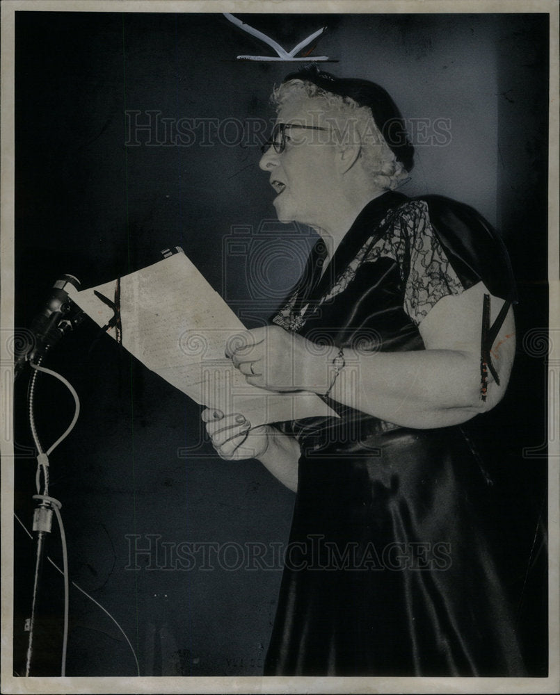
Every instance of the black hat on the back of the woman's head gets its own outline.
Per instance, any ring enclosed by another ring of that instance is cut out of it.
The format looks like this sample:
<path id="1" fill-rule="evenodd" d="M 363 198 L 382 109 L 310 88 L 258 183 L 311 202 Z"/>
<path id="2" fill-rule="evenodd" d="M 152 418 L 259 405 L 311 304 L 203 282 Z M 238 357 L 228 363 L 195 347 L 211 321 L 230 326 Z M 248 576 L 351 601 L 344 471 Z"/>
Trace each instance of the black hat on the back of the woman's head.
<path id="1" fill-rule="evenodd" d="M 335 77 L 319 70 L 317 65 L 306 65 L 298 72 L 291 72 L 283 82 L 303 80 L 312 82 L 326 92 L 340 97 L 350 97 L 359 106 L 367 106 L 381 131 L 385 142 L 407 171 L 414 166 L 414 147 L 406 134 L 403 117 L 390 95 L 374 82 L 352 77 Z"/>

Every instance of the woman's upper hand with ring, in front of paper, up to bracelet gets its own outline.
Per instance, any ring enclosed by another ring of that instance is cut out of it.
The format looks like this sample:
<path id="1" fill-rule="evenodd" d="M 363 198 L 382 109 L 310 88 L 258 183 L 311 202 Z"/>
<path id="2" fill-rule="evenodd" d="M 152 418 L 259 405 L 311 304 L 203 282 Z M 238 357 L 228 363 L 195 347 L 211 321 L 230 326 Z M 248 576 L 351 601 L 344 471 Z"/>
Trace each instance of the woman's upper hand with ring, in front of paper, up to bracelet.
<path id="1" fill-rule="evenodd" d="M 234 336 L 226 348 L 248 384 L 270 391 L 326 391 L 323 347 L 279 326 L 264 326 Z"/>

